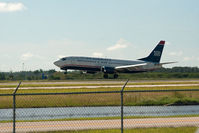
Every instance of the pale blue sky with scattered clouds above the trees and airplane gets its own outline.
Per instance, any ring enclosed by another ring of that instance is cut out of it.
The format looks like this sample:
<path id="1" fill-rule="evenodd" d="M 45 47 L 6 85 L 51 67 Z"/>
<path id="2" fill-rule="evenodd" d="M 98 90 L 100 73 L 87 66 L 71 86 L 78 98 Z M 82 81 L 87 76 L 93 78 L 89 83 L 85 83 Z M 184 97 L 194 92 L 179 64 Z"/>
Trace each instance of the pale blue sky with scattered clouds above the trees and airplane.
<path id="1" fill-rule="evenodd" d="M 165 67 L 199 67 L 198 0 L 0 0 L 0 72 L 64 56 L 136 60 L 165 40 Z"/>

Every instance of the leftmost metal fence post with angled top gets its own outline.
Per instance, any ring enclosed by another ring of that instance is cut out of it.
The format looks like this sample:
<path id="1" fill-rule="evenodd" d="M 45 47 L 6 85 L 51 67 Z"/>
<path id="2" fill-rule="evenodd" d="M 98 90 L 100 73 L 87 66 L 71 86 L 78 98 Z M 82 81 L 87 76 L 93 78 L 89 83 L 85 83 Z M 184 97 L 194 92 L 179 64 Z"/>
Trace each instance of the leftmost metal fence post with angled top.
<path id="1" fill-rule="evenodd" d="M 13 133 L 16 132 L 15 130 L 15 120 L 16 120 L 16 113 L 15 113 L 15 110 L 16 110 L 16 93 L 17 93 L 17 90 L 19 88 L 19 86 L 21 85 L 21 81 L 19 82 L 17 88 L 15 89 L 14 93 L 13 93 Z"/>

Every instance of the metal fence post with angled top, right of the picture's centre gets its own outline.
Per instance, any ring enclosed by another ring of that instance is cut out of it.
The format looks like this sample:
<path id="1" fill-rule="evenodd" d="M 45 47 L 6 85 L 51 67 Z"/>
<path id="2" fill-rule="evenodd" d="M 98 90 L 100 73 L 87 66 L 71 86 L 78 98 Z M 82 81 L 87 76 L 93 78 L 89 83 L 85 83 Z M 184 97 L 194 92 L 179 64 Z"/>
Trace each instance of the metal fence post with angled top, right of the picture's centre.
<path id="1" fill-rule="evenodd" d="M 126 83 L 123 85 L 122 89 L 121 89 L 121 133 L 123 133 L 124 131 L 124 103 L 123 103 L 123 92 L 124 92 L 124 88 L 127 85 L 129 79 L 127 79 Z"/>

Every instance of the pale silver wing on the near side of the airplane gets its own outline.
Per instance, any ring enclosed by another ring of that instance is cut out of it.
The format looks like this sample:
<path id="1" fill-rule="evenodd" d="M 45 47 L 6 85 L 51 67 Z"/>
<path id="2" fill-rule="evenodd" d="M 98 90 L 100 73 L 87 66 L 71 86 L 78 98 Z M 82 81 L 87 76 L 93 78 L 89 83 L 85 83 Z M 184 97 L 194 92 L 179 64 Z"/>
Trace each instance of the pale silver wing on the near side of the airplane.
<path id="1" fill-rule="evenodd" d="M 136 64 L 136 65 L 126 65 L 126 66 L 118 66 L 115 67 L 117 71 L 140 71 L 143 69 L 143 66 L 147 65 L 147 63 Z"/>

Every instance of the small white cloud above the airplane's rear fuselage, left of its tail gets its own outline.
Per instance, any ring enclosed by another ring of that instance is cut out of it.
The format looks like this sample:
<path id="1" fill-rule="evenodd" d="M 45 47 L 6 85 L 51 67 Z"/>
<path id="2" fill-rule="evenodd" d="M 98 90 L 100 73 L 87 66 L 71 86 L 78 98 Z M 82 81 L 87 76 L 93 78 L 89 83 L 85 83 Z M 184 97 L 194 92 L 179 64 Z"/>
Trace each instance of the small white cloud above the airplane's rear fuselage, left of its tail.
<path id="1" fill-rule="evenodd" d="M 128 45 L 130 45 L 130 43 L 121 38 L 119 41 L 117 41 L 117 43 L 115 45 L 108 47 L 106 50 L 114 51 L 114 50 L 118 50 L 121 48 L 126 48 Z"/>

